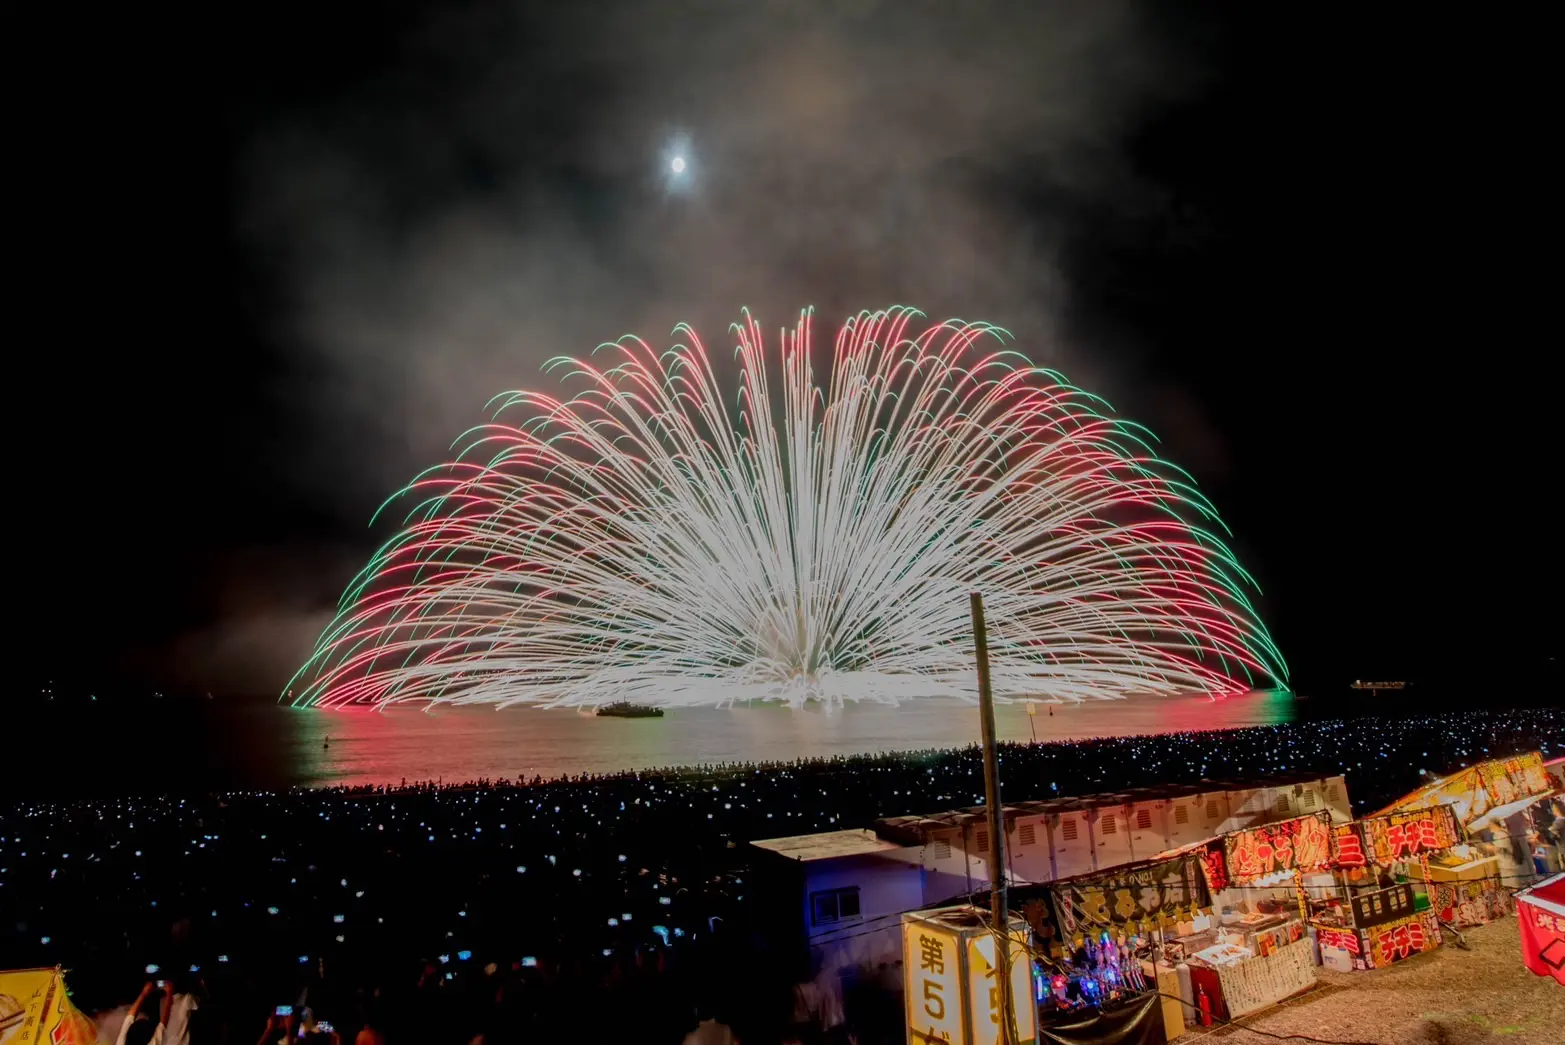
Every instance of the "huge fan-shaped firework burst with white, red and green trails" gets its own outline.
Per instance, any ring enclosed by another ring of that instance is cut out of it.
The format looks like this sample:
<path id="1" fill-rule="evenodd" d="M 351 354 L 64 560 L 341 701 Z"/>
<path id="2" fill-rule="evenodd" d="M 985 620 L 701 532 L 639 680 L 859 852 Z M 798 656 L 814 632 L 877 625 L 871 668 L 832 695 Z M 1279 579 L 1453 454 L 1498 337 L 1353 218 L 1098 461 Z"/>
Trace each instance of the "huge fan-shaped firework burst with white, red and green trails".
<path id="1" fill-rule="evenodd" d="M 811 313 L 737 396 L 689 327 L 557 358 L 405 487 L 296 704 L 1224 695 L 1285 666 L 1193 480 L 997 327 Z M 391 504 L 391 502 L 388 502 Z M 383 510 L 383 508 L 382 508 Z"/>

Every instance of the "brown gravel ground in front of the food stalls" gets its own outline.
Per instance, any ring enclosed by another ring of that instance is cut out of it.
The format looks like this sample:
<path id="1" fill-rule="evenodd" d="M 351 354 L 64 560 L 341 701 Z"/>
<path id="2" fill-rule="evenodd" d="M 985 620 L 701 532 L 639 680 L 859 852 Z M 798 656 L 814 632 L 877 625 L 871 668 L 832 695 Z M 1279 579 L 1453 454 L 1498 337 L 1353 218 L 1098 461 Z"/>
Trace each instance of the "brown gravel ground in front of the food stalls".
<path id="1" fill-rule="evenodd" d="M 1534 976 L 1521 964 L 1516 918 L 1465 931 L 1473 950 L 1449 943 L 1430 954 L 1362 973 L 1316 970 L 1321 987 L 1239 1026 L 1180 1037 L 1207 1045 L 1275 1045 L 1250 1034 L 1307 1034 L 1332 1042 L 1374 1045 L 1560 1045 L 1565 1042 L 1565 987 Z M 1293 1039 L 1297 1043 L 1299 1039 Z"/>

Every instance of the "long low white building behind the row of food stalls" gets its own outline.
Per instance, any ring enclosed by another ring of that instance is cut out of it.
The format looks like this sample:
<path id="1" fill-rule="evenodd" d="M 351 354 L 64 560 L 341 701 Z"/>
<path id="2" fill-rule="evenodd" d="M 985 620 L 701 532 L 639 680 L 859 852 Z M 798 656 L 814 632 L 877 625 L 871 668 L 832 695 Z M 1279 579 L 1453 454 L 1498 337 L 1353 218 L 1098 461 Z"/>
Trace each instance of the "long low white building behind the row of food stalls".
<path id="1" fill-rule="evenodd" d="M 1282 774 L 1008 804 L 1008 878 L 1050 882 L 1321 810 L 1333 823 L 1352 820 L 1343 777 Z M 905 910 L 966 898 L 989 882 L 983 806 L 753 845 L 765 854 L 757 870 L 779 920 L 801 931 L 828 970 L 898 962 Z"/>

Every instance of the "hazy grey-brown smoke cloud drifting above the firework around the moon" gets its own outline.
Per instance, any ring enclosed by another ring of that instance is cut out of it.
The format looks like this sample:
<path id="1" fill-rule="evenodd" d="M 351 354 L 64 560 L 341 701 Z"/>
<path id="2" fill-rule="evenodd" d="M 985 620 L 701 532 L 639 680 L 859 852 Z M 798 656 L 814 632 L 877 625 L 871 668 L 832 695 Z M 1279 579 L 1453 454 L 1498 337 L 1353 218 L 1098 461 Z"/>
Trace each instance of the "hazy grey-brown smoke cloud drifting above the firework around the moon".
<path id="1" fill-rule="evenodd" d="M 989 319 L 1113 394 L 1064 343 L 1063 264 L 1080 214 L 1160 205 L 1125 142 L 1199 70 L 1147 9 L 537 6 L 432 14 L 252 128 L 243 235 L 288 346 L 296 497 L 362 524 L 490 396 L 554 380 L 549 357 L 679 321 L 721 350 L 740 307 L 772 330 L 804 305 L 828 330 L 889 303 Z M 203 643 L 249 673 L 257 637 L 324 609 Z"/>

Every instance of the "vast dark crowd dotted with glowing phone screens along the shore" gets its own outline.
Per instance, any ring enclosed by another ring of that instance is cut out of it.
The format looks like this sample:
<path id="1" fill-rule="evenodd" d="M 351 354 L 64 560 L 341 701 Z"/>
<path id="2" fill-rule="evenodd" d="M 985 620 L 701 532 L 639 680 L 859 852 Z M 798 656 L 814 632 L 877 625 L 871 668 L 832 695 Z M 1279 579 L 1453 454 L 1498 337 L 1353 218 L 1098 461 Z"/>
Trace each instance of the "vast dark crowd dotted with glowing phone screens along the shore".
<path id="1" fill-rule="evenodd" d="M 1310 770 L 1343 773 L 1357 813 L 1424 773 L 1562 754 L 1562 726 L 1551 709 L 1468 710 L 1005 745 L 1002 788 Z M 969 748 L 17 804 L 0 809 L 0 968 L 64 965 L 89 1012 L 142 992 L 149 1026 L 183 1000 L 164 1042 L 678 1045 L 703 1020 L 803 1040 L 792 986 L 811 973 L 762 929 L 743 843 L 981 801 Z"/>

